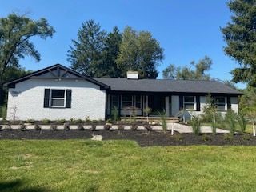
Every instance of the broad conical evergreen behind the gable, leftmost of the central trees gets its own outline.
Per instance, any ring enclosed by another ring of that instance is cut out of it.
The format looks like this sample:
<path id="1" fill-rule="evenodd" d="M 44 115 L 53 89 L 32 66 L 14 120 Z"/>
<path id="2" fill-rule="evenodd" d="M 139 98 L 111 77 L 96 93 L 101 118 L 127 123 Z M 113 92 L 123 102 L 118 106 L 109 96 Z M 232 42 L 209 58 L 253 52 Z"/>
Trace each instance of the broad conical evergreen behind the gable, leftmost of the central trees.
<path id="1" fill-rule="evenodd" d="M 99 23 L 89 20 L 82 23 L 78 30 L 78 40 L 72 40 L 73 46 L 68 51 L 71 68 L 87 76 L 102 77 L 99 70 L 103 66 L 102 51 L 106 31 Z"/>

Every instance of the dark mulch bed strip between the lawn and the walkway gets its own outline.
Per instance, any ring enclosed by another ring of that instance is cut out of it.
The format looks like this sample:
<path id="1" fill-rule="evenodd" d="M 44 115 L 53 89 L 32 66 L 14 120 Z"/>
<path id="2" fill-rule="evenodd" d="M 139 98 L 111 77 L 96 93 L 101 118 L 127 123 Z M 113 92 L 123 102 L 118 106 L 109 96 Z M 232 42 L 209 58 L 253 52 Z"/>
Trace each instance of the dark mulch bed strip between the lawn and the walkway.
<path id="1" fill-rule="evenodd" d="M 256 146 L 256 138 L 251 134 L 178 134 L 151 130 L 2 130 L 0 139 L 74 139 L 92 138 L 92 134 L 103 136 L 103 140 L 126 139 L 138 142 L 140 146 L 189 146 L 189 145 L 245 145 Z"/>

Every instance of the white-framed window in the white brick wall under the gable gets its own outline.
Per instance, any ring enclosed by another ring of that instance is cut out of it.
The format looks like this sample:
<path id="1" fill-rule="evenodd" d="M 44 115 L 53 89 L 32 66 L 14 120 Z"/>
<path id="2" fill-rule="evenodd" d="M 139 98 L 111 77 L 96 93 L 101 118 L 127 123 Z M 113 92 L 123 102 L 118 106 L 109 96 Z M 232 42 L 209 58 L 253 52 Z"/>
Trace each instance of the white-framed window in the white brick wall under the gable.
<path id="1" fill-rule="evenodd" d="M 51 90 L 50 106 L 65 107 L 65 90 Z"/>

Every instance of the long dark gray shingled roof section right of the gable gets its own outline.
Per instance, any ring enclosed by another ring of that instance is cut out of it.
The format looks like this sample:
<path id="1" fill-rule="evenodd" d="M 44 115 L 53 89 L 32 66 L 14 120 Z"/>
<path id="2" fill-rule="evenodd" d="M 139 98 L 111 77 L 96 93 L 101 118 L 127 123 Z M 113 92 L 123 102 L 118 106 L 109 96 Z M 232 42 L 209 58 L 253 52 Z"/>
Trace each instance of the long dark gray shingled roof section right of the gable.
<path id="1" fill-rule="evenodd" d="M 114 91 L 171 92 L 171 93 L 210 93 L 242 94 L 230 86 L 217 81 L 167 80 L 167 79 L 127 79 L 94 78 L 110 86 Z"/>

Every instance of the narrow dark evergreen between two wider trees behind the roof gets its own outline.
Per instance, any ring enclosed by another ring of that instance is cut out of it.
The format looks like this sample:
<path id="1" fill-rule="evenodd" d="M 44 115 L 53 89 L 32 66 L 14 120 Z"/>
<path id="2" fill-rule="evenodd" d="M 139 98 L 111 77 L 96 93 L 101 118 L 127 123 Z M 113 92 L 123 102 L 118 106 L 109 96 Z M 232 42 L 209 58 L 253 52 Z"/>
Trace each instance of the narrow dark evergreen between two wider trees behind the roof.
<path id="1" fill-rule="evenodd" d="M 102 52 L 103 67 L 101 68 L 103 77 L 119 78 L 120 74 L 122 74 L 116 63 L 121 42 L 122 34 L 119 32 L 118 27 L 114 26 L 113 31 L 107 34 L 104 41 Z"/>

